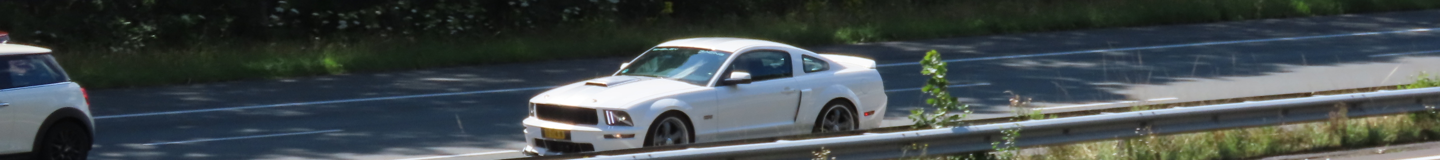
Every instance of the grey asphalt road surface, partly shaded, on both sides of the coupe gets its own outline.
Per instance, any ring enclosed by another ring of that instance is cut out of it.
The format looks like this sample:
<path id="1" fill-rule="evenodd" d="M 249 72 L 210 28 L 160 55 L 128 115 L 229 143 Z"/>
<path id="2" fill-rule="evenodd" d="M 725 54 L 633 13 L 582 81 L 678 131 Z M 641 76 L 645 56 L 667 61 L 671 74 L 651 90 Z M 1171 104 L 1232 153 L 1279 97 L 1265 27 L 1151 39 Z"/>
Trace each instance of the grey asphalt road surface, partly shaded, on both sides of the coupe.
<path id="1" fill-rule="evenodd" d="M 972 118 L 1405 84 L 1440 72 L 1440 10 L 808 48 L 877 59 L 886 115 L 922 107 L 912 65 L 946 53 Z M 644 49 L 635 49 L 636 55 Z M 524 147 L 526 99 L 628 58 L 95 89 L 95 160 L 390 160 Z M 1103 105 L 1110 102 L 1109 105 Z M 1102 104 L 1102 105 L 1080 105 Z"/>

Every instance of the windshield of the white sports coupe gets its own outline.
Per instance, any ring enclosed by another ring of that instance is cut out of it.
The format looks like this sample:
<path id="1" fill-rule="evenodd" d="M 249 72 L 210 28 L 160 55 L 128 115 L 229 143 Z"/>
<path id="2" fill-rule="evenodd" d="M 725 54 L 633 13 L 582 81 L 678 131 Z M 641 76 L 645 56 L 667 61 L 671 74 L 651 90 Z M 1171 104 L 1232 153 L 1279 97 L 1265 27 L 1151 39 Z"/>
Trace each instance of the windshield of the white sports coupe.
<path id="1" fill-rule="evenodd" d="M 693 48 L 655 48 L 621 69 L 619 75 L 654 76 L 706 85 L 729 55 L 729 52 Z"/>

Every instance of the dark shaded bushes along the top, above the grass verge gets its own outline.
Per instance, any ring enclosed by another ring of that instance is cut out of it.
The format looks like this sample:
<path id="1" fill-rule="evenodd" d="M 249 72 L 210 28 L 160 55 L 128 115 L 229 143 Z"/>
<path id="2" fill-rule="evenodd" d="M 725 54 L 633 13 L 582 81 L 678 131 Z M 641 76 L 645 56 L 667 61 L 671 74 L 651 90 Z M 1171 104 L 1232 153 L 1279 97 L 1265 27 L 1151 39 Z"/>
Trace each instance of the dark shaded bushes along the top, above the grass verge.
<path id="1" fill-rule="evenodd" d="M 706 23 L 822 6 L 935 0 L 0 0 L 0 30 L 40 45 L 137 49 L 215 39 L 487 37 L 575 25 Z"/>

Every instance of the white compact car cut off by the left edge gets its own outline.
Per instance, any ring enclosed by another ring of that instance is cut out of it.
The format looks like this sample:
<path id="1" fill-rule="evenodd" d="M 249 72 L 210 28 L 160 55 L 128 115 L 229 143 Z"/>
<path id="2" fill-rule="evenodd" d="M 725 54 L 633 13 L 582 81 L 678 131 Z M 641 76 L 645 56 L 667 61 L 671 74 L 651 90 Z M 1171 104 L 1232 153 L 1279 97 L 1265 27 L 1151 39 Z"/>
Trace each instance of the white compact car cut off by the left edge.
<path id="1" fill-rule="evenodd" d="M 85 89 L 50 49 L 7 43 L 0 32 L 0 160 L 85 160 L 92 118 Z"/>

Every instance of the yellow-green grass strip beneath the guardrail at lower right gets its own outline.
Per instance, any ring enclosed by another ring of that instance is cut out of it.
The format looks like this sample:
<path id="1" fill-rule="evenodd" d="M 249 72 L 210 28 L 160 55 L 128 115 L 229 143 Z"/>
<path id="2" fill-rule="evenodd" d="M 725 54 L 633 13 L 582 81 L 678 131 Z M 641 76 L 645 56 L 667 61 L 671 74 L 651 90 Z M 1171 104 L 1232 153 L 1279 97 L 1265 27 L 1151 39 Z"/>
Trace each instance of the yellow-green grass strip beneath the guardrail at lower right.
<path id="1" fill-rule="evenodd" d="M 1420 134 L 1431 128 L 1420 127 L 1413 115 L 1349 118 L 1344 133 L 1331 131 L 1335 125 L 1322 121 L 1041 146 L 1031 148 L 1044 148 L 1045 154 L 1020 160 L 1237 160 L 1434 140 Z"/>

